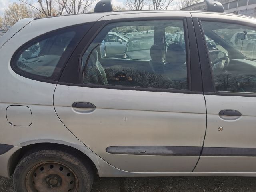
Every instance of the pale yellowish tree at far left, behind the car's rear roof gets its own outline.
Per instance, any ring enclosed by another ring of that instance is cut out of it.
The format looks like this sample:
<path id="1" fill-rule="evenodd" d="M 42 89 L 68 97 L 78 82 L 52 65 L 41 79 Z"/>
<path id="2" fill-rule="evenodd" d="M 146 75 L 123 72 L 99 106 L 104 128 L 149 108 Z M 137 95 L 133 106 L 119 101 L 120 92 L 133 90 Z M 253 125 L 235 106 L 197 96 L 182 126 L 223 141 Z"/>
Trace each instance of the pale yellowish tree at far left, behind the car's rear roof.
<path id="1" fill-rule="evenodd" d="M 26 4 L 12 3 L 4 11 L 2 22 L 4 26 L 12 26 L 18 20 L 35 17 L 36 13 Z"/>

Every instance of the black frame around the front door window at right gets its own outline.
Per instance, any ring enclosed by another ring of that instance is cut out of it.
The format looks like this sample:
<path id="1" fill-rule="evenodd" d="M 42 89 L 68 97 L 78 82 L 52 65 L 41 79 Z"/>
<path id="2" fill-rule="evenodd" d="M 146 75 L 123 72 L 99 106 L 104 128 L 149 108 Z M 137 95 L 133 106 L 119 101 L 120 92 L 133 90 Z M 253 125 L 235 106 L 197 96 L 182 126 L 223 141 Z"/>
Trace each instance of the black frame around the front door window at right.
<path id="1" fill-rule="evenodd" d="M 256 93 L 251 93 L 251 92 L 229 92 L 229 91 L 216 91 L 215 88 L 215 84 L 214 84 L 214 79 L 213 79 L 213 71 L 212 71 L 212 66 L 211 66 L 211 61 L 210 61 L 210 56 L 209 56 L 209 52 L 208 52 L 208 48 L 207 48 L 207 44 L 206 44 L 206 39 L 204 36 L 204 30 L 202 28 L 202 23 L 201 21 L 208 21 L 208 22 L 222 22 L 222 23 L 231 23 L 231 24 L 238 24 L 238 25 L 242 25 L 242 26 L 248 26 L 248 27 L 252 27 L 255 28 L 255 24 L 252 24 L 250 22 L 241 22 L 241 21 L 237 21 L 237 20 L 230 20 L 230 19 L 216 19 L 216 18 L 204 18 L 204 17 L 200 17 L 200 18 L 193 18 L 198 20 L 198 24 L 200 26 L 200 31 L 201 31 L 201 35 L 202 35 L 202 40 L 204 41 L 204 46 L 206 49 L 206 55 L 208 58 L 207 62 L 203 62 L 201 61 L 201 64 L 204 63 L 208 63 L 208 67 L 210 70 L 204 70 L 203 74 L 202 74 L 202 78 L 203 78 L 203 87 L 204 87 L 204 94 L 205 95 L 219 95 L 219 96 L 239 96 L 239 97 L 256 97 Z M 200 46 L 199 46 L 200 47 Z M 202 56 L 202 51 L 199 51 L 199 55 Z M 201 66 L 203 68 L 203 66 Z M 212 79 L 212 83 L 210 84 L 210 82 L 206 79 L 206 76 L 210 75 L 211 79 Z M 211 87 L 211 90 L 208 90 L 206 88 L 206 86 Z M 206 88 L 206 89 L 205 89 Z"/>

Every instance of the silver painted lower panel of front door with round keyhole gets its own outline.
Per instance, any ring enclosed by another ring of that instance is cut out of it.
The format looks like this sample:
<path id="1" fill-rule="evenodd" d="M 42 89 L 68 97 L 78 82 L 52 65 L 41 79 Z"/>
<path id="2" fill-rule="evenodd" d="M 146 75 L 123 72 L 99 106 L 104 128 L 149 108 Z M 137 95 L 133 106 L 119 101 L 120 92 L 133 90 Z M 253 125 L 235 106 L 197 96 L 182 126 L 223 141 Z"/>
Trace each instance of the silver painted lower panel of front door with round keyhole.
<path id="1" fill-rule="evenodd" d="M 207 132 L 204 147 L 256 148 L 256 98 L 205 95 Z M 233 109 L 242 116 L 219 116 Z M 223 131 L 218 131 L 219 127 Z M 196 172 L 256 171 L 255 157 L 201 157 Z M 213 163 L 214 162 L 214 163 Z"/>

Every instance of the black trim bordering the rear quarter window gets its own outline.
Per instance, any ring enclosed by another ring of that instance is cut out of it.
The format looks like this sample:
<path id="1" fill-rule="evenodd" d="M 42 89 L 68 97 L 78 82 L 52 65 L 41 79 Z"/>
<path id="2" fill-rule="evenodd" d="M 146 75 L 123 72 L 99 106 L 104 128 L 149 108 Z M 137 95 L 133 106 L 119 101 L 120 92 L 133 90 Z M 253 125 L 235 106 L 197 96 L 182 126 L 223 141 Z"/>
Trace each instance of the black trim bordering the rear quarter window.
<path id="1" fill-rule="evenodd" d="M 20 76 L 23 76 L 23 77 L 25 77 L 25 78 L 31 79 L 31 80 L 36 80 L 36 81 L 40 81 L 40 82 L 46 82 L 46 83 L 57 84 L 58 81 L 59 81 L 59 79 L 60 79 L 60 77 L 61 77 L 61 75 L 62 75 L 62 72 L 63 72 L 63 70 L 64 70 L 64 68 L 65 68 L 65 66 L 66 66 L 66 64 L 67 64 L 67 62 L 68 62 L 68 60 L 70 59 L 70 56 L 72 55 L 72 53 L 73 53 L 74 50 L 76 49 L 77 45 L 80 43 L 81 39 L 82 39 L 82 38 L 86 35 L 86 33 L 90 30 L 90 28 L 92 27 L 93 24 L 94 24 L 94 22 L 88 22 L 88 23 L 82 23 L 82 24 L 76 24 L 76 25 L 66 26 L 66 27 L 58 28 L 58 29 L 56 29 L 56 30 L 52 30 L 52 31 L 46 32 L 46 33 L 44 33 L 44 34 L 41 34 L 41 35 L 39 35 L 39 36 L 36 36 L 35 38 L 29 40 L 28 42 L 22 44 L 22 46 L 20 46 L 20 47 L 14 52 L 14 54 L 12 55 L 12 58 L 11 58 L 11 62 L 10 62 L 12 70 L 13 70 L 16 74 L 18 74 L 18 75 L 20 75 Z M 63 53 L 64 56 L 62 56 L 62 57 L 60 58 L 60 60 L 59 60 L 59 62 L 58 62 L 58 64 L 57 64 L 57 66 L 58 66 L 60 63 L 64 63 L 64 64 L 62 64 L 62 68 L 61 68 L 61 70 L 60 70 L 60 72 L 59 72 L 59 74 L 58 74 L 58 78 L 56 78 L 56 80 L 50 80 L 50 79 L 47 79 L 47 77 L 42 77 L 42 78 L 41 78 L 41 77 L 38 76 L 38 75 L 33 75 L 33 74 L 28 73 L 28 72 L 26 72 L 26 71 L 23 71 L 23 72 L 21 73 L 21 72 L 18 72 L 18 71 L 16 70 L 16 66 L 15 66 L 16 64 L 15 64 L 15 63 L 16 63 L 16 61 L 19 59 L 19 58 L 18 58 L 18 56 L 20 56 L 19 53 L 21 53 L 21 51 L 23 51 L 24 48 L 34 45 L 34 44 L 35 44 L 35 41 L 40 42 L 41 40 L 44 40 L 44 39 L 46 39 L 46 38 L 50 38 L 50 37 L 52 36 L 52 34 L 58 32 L 58 31 L 60 31 L 60 30 L 69 30 L 69 29 L 70 29 L 70 31 L 72 31 L 73 28 L 81 27 L 81 26 L 88 26 L 88 29 L 87 29 L 87 31 L 86 31 L 84 34 L 83 34 L 83 33 L 77 34 L 77 32 L 76 32 L 75 36 L 72 38 L 71 42 L 74 41 L 75 38 L 78 38 L 78 39 L 76 40 L 76 42 L 74 42 L 74 46 L 73 46 L 73 47 L 70 47 L 70 45 L 68 45 L 68 48 L 71 48 L 70 54 L 65 54 L 65 53 L 67 52 L 67 50 L 65 50 L 64 53 Z"/>

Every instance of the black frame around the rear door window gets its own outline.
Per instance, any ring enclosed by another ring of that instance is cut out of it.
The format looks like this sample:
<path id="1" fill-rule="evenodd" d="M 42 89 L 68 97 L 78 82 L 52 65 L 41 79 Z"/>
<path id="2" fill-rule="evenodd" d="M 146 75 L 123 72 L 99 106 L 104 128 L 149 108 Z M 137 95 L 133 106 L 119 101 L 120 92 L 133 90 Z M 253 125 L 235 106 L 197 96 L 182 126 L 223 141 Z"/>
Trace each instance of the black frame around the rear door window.
<path id="1" fill-rule="evenodd" d="M 186 40 L 186 57 L 187 57 L 187 73 L 188 73 L 188 89 L 187 90 L 181 90 L 181 89 L 167 89 L 167 88 L 150 88 L 150 87 L 132 87 L 132 86 L 116 86 L 116 85 L 102 85 L 102 84 L 84 84 L 83 82 L 83 70 L 82 70 L 82 56 L 84 52 L 88 49 L 90 44 L 93 42 L 93 40 L 98 36 L 98 34 L 101 32 L 101 30 L 108 24 L 112 23 L 119 23 L 119 22 L 135 22 L 135 21 L 154 21 L 154 20 L 182 20 L 184 24 L 184 37 Z M 189 20 L 189 21 L 188 21 Z M 189 37 L 189 35 L 192 35 L 193 37 Z M 191 78 L 191 60 L 190 58 L 193 58 L 196 60 L 197 56 L 193 55 L 190 56 L 190 49 L 191 47 L 197 47 L 196 42 L 193 42 L 193 45 L 191 45 L 191 39 L 195 40 L 195 34 L 194 34 L 194 26 L 192 24 L 192 17 L 148 17 L 148 18 L 126 18 L 126 19 L 116 19 L 116 20 L 106 20 L 106 21 L 98 21 L 96 22 L 95 26 L 91 28 L 91 30 L 88 32 L 86 36 L 84 36 L 83 40 L 78 45 L 78 49 L 75 50 L 76 56 L 78 56 L 79 52 L 79 59 L 78 59 L 78 68 L 79 68 L 79 74 L 72 74 L 73 76 L 78 76 L 79 80 L 76 80 L 76 82 L 70 82 L 68 77 L 68 70 L 66 71 L 66 75 L 64 77 L 60 77 L 60 81 L 58 84 L 61 85 L 68 85 L 68 86 L 79 86 L 79 87 L 91 87 L 91 88 L 106 88 L 106 89 L 120 89 L 120 90 L 137 90 L 137 91 L 151 91 L 151 92 L 174 92 L 174 93 L 187 93 L 187 94 L 203 94 L 202 91 L 202 77 L 201 77 L 201 71 L 199 70 L 196 74 L 197 78 L 200 80 L 193 81 L 194 86 L 192 89 L 192 78 Z M 82 49 L 81 49 L 82 48 Z M 198 52 L 196 52 L 198 55 Z M 73 57 L 72 62 L 68 63 L 66 65 L 72 66 L 76 64 L 75 60 L 77 57 Z M 197 62 L 198 68 L 200 68 L 199 60 Z M 65 72 L 65 69 L 64 69 Z"/>

